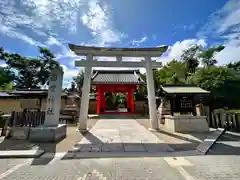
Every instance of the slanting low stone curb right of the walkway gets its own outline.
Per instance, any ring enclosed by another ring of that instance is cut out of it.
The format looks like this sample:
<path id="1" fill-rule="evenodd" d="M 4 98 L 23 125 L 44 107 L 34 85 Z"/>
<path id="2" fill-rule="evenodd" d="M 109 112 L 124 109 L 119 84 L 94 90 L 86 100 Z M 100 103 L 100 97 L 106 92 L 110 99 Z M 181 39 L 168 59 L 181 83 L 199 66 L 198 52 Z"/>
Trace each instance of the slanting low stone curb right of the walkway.
<path id="1" fill-rule="evenodd" d="M 218 128 L 216 131 L 212 132 L 204 141 L 199 144 L 199 146 L 196 148 L 197 153 L 201 155 L 206 155 L 209 149 L 215 144 L 215 142 L 218 140 L 218 138 L 225 133 L 225 129 Z"/>

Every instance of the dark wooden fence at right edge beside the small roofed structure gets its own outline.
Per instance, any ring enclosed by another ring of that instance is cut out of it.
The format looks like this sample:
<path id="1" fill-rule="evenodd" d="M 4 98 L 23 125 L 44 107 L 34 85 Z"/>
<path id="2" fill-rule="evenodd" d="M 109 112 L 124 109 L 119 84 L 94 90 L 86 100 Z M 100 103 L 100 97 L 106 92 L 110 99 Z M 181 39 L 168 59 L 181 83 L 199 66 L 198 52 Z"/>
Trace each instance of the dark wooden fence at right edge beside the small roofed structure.
<path id="1" fill-rule="evenodd" d="M 212 128 L 226 128 L 229 131 L 240 132 L 240 113 L 230 113 L 224 110 L 212 110 L 204 107 L 202 115 L 207 116 L 207 121 Z"/>

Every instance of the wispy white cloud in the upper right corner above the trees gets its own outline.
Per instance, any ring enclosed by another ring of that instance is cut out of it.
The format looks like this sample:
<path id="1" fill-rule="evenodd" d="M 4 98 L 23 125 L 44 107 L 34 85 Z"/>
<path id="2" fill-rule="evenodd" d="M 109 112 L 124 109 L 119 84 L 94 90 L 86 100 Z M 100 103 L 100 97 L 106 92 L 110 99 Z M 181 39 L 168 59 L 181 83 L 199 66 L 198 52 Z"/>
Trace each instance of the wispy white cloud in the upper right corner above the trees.
<path id="1" fill-rule="evenodd" d="M 240 1 L 230 0 L 220 10 L 213 13 L 197 36 L 220 39 L 224 42 L 225 49 L 216 55 L 219 64 L 239 61 Z"/>

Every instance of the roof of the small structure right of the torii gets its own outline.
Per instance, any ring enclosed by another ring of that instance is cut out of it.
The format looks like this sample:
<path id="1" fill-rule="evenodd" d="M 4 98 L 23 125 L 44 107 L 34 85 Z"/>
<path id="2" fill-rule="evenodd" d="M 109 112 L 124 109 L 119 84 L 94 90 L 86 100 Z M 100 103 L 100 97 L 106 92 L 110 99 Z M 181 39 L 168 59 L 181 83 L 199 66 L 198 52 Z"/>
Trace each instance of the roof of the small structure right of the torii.
<path id="1" fill-rule="evenodd" d="M 206 91 L 198 85 L 186 84 L 186 85 L 163 85 L 161 89 L 167 94 L 208 94 Z"/>

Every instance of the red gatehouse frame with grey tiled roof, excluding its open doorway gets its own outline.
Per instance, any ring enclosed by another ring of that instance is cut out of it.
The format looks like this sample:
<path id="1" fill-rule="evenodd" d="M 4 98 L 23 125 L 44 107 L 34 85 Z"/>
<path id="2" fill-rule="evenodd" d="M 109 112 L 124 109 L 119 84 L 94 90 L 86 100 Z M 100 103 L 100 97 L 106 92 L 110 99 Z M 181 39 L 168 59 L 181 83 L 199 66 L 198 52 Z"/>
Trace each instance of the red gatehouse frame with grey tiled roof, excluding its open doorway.
<path id="1" fill-rule="evenodd" d="M 97 114 L 117 113 L 117 114 L 134 114 L 135 100 L 134 92 L 137 86 L 144 84 L 140 78 L 139 70 L 96 70 L 92 77 L 92 85 L 97 89 Z M 104 74 L 104 77 L 101 75 Z M 99 76 L 98 76 L 99 75 Z M 121 79 L 121 75 L 124 78 Z M 98 77 L 97 77 L 98 76 Z M 127 93 L 127 112 L 107 112 L 106 111 L 106 97 L 104 93 Z"/>

